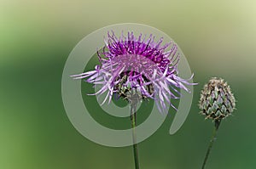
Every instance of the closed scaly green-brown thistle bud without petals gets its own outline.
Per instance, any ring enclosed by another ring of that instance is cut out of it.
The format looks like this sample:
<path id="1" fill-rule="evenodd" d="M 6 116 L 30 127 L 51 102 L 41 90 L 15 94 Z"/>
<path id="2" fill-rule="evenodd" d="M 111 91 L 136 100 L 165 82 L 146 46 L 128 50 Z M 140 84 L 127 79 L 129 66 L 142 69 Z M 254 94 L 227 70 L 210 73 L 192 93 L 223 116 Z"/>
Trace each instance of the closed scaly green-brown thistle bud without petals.
<path id="1" fill-rule="evenodd" d="M 206 119 L 220 121 L 233 112 L 236 99 L 227 82 L 213 77 L 201 91 L 199 107 Z"/>

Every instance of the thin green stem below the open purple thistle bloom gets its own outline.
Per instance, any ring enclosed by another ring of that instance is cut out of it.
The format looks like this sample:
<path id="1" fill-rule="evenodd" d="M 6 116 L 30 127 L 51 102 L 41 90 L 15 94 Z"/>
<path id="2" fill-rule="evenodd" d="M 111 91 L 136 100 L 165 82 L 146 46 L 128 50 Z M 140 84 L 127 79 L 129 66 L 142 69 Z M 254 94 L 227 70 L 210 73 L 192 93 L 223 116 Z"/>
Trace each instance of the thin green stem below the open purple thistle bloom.
<path id="1" fill-rule="evenodd" d="M 139 161 L 138 161 L 138 149 L 137 149 L 137 136 L 136 136 L 136 107 L 137 104 L 131 104 L 131 127 L 132 127 L 132 146 L 133 146 L 133 155 L 135 162 L 135 169 L 139 169 Z"/>

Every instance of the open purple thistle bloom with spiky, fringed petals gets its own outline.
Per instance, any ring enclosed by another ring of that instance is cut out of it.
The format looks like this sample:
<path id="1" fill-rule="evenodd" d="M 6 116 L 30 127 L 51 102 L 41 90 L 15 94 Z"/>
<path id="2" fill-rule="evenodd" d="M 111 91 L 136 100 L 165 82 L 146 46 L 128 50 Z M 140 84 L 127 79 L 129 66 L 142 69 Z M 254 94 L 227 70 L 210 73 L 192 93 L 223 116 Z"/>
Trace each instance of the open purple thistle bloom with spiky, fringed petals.
<path id="1" fill-rule="evenodd" d="M 102 104 L 110 103 L 113 94 L 127 99 L 135 95 L 137 99 L 155 99 L 160 112 L 166 113 L 166 103 L 171 99 L 179 99 L 179 89 L 189 92 L 185 85 L 195 85 L 189 80 L 177 76 L 177 64 L 180 54 L 177 44 L 174 42 L 161 45 L 163 38 L 154 42 L 150 35 L 148 39 L 140 34 L 135 37 L 133 32 L 123 34 L 118 38 L 114 32 L 108 32 L 105 46 L 102 52 L 97 51 L 101 65 L 96 65 L 95 70 L 90 70 L 79 75 L 73 75 L 74 79 L 86 79 L 86 82 L 102 85 L 100 90 L 92 95 L 107 93 Z M 171 48 L 167 50 L 167 48 Z"/>

